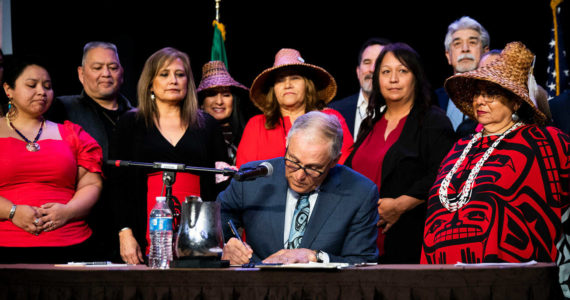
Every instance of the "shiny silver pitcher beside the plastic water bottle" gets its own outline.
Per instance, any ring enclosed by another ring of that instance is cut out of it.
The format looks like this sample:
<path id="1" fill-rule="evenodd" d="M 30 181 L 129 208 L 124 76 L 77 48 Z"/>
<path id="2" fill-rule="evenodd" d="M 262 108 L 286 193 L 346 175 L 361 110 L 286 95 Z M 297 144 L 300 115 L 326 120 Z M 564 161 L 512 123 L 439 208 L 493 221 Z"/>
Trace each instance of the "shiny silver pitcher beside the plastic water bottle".
<path id="1" fill-rule="evenodd" d="M 220 204 L 188 196 L 182 203 L 174 245 L 178 259 L 218 258 L 223 247 Z"/>

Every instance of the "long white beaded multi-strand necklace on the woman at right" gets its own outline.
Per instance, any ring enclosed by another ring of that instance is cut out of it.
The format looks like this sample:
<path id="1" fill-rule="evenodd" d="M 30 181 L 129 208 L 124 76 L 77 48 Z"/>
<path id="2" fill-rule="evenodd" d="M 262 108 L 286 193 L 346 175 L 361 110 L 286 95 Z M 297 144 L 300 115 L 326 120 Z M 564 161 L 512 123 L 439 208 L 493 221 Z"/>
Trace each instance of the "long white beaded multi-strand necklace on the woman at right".
<path id="1" fill-rule="evenodd" d="M 489 149 L 485 151 L 483 157 L 481 157 L 481 159 L 477 162 L 477 164 L 475 164 L 475 167 L 471 169 L 471 172 L 469 172 L 469 176 L 467 177 L 467 181 L 463 185 L 463 189 L 461 190 L 461 192 L 458 193 L 457 196 L 455 196 L 455 198 L 449 199 L 447 197 L 447 190 L 449 188 L 451 178 L 453 177 L 453 175 L 455 175 L 457 169 L 459 169 L 459 166 L 461 165 L 461 163 L 463 163 L 465 157 L 467 157 L 467 153 L 469 153 L 473 145 L 483 136 L 483 133 L 478 132 L 473 136 L 471 141 L 469 141 L 469 144 L 467 144 L 467 147 L 465 147 L 465 149 L 463 150 L 463 153 L 461 153 L 459 159 L 453 165 L 453 168 L 451 168 L 451 171 L 447 173 L 447 175 L 441 182 L 441 185 L 439 186 L 439 201 L 448 211 L 454 212 L 463 207 L 465 204 L 467 204 L 467 202 L 469 202 L 471 198 L 471 189 L 473 188 L 473 183 L 475 182 L 475 178 L 477 178 L 477 175 L 479 174 L 479 171 L 481 170 L 481 167 L 483 166 L 485 161 L 487 161 L 489 156 L 491 156 L 491 153 L 493 153 L 493 150 L 497 148 L 497 145 L 499 145 L 499 143 L 503 140 L 503 138 L 507 134 L 511 133 L 513 130 L 523 125 L 524 123 L 518 122 L 515 125 L 511 126 L 511 128 L 509 128 L 507 131 L 503 132 L 503 134 L 501 134 L 501 136 L 499 136 L 499 138 L 495 140 L 495 142 L 491 145 L 491 147 L 489 147 Z"/>

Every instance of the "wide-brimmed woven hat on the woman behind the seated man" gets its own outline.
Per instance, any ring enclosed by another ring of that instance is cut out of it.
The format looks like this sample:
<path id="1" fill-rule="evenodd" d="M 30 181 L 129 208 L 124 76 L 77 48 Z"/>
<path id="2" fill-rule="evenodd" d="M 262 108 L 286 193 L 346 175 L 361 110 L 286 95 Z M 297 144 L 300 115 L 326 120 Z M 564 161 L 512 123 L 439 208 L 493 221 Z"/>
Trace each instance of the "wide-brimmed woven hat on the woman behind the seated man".
<path id="1" fill-rule="evenodd" d="M 269 87 L 274 83 L 276 71 L 284 68 L 298 70 L 302 75 L 311 79 L 315 84 L 318 98 L 324 100 L 325 103 L 329 103 L 336 95 L 336 81 L 329 72 L 319 66 L 305 63 L 299 51 L 284 48 L 275 55 L 273 67 L 261 72 L 251 84 L 249 97 L 255 106 L 262 111 L 264 110 Z"/>

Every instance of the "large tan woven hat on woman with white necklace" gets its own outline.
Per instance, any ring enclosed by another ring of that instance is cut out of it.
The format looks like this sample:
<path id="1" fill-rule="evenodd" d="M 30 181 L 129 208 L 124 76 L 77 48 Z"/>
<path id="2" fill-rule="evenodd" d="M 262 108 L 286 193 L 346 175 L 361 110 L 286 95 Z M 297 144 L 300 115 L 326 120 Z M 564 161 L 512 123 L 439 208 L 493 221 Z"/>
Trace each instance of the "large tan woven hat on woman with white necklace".
<path id="1" fill-rule="evenodd" d="M 477 89 L 477 81 L 489 81 L 518 96 L 530 105 L 537 119 L 544 121 L 546 116 L 529 96 L 529 76 L 530 81 L 534 82 L 533 62 L 534 54 L 525 45 L 512 42 L 505 46 L 500 57 L 491 64 L 449 77 L 444 84 L 445 90 L 459 110 L 476 120 L 473 113 L 473 95 Z"/>

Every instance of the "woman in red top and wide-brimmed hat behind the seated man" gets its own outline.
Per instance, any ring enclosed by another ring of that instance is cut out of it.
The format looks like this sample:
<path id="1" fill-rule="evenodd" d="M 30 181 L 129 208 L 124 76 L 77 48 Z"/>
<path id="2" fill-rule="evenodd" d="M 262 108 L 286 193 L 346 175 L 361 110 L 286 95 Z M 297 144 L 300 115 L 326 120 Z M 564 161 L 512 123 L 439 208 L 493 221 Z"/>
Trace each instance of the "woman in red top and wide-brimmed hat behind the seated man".
<path id="1" fill-rule="evenodd" d="M 335 115 L 343 129 L 344 163 L 353 139 L 342 115 L 325 105 L 336 94 L 336 81 L 323 68 L 307 64 L 295 49 L 281 49 L 273 67 L 255 78 L 249 96 L 263 112 L 247 123 L 236 154 L 236 165 L 285 155 L 285 138 L 297 117 L 312 110 Z"/>

